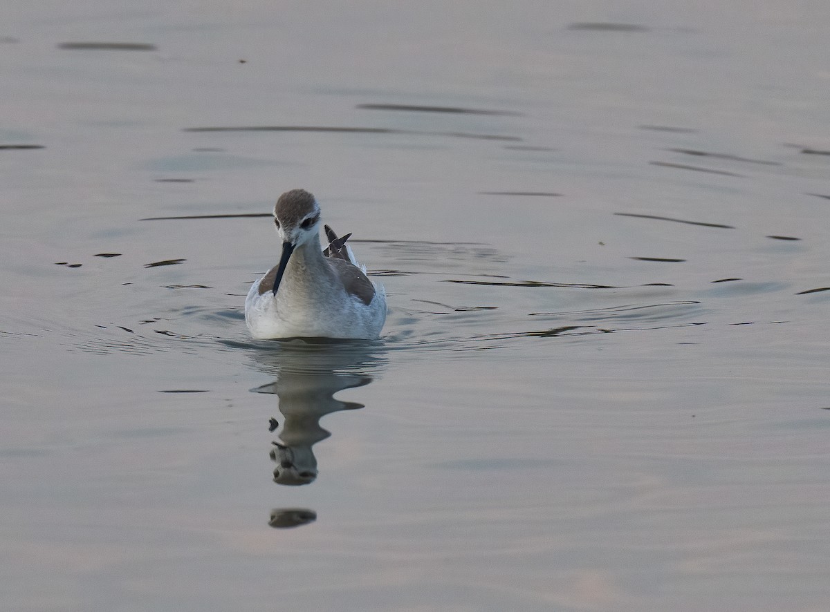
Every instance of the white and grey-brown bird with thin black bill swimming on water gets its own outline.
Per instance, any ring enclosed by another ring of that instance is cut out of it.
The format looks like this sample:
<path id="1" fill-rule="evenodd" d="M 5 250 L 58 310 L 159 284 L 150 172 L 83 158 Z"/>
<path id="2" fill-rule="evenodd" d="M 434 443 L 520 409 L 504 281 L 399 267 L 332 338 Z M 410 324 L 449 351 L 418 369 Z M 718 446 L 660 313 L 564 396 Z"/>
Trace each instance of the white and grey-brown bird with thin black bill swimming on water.
<path id="1" fill-rule="evenodd" d="M 320 204 L 309 192 L 285 192 L 274 206 L 282 241 L 280 263 L 251 285 L 245 322 L 257 339 L 378 338 L 386 321 L 386 291 L 369 280 L 366 266 L 325 226 L 320 245 Z"/>

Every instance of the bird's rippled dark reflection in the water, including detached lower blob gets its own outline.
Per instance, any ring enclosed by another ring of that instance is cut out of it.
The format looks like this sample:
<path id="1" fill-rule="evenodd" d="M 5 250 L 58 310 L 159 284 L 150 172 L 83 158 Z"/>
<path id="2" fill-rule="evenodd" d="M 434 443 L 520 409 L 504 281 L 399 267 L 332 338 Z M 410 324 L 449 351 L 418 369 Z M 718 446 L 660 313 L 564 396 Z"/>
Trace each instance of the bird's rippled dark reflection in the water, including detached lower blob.
<path id="1" fill-rule="evenodd" d="M 256 361 L 276 380 L 256 387 L 257 393 L 277 396 L 282 418 L 273 442 L 276 462 L 274 482 L 310 484 L 318 474 L 312 447 L 331 434 L 320 426 L 323 416 L 339 410 L 363 408 L 363 404 L 334 399 L 337 391 L 368 385 L 386 362 L 378 342 L 269 342 L 255 353 Z M 271 420 L 273 431 L 276 427 Z M 306 508 L 275 508 L 271 527 L 295 527 L 316 518 Z M 301 519 L 301 520 L 300 520 Z"/>

